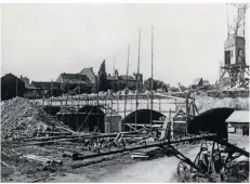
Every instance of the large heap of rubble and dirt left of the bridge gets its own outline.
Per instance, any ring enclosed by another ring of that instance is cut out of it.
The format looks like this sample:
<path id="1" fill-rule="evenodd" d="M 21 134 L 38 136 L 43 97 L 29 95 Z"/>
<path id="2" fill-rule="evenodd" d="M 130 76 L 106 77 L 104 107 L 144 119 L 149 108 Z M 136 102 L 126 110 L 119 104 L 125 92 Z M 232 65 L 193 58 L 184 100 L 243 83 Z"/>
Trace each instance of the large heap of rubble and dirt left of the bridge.
<path id="1" fill-rule="evenodd" d="M 2 137 L 32 137 L 48 131 L 73 132 L 26 98 L 15 97 L 1 104 Z"/>

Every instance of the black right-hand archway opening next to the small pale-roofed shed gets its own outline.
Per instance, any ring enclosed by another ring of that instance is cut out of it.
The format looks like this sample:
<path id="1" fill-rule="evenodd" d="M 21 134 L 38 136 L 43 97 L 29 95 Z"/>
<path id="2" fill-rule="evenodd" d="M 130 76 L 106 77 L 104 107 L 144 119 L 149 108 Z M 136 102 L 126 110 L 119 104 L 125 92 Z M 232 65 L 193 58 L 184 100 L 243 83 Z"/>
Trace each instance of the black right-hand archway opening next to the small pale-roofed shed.
<path id="1" fill-rule="evenodd" d="M 213 108 L 207 110 L 188 122 L 187 132 L 199 134 L 201 132 L 216 133 L 219 139 L 228 139 L 226 119 L 234 108 Z"/>

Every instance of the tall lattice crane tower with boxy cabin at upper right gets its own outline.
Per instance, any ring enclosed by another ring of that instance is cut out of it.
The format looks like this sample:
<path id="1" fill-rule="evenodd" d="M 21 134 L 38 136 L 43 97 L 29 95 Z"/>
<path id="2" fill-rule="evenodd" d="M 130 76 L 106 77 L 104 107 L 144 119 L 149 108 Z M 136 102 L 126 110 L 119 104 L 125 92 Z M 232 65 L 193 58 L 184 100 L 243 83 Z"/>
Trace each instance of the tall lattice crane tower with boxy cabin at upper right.
<path id="1" fill-rule="evenodd" d="M 221 66 L 220 80 L 227 74 L 229 88 L 249 88 L 249 66 L 246 64 L 246 12 L 247 3 L 236 4 L 237 14 L 233 26 L 228 23 L 227 4 L 227 39 L 224 43 L 224 65 Z M 223 82 L 224 83 L 224 82 Z"/>

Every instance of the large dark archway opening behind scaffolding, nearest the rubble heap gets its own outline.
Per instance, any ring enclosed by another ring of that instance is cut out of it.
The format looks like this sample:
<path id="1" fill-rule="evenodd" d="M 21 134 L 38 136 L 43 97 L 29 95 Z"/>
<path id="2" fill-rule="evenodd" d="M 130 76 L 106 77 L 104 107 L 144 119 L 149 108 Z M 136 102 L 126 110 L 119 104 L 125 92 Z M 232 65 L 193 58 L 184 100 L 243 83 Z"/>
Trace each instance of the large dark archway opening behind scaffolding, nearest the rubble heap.
<path id="1" fill-rule="evenodd" d="M 78 113 L 57 114 L 57 118 L 75 131 L 93 132 L 98 128 L 102 133 L 105 132 L 104 116 L 101 108 L 92 105 L 81 107 Z"/>

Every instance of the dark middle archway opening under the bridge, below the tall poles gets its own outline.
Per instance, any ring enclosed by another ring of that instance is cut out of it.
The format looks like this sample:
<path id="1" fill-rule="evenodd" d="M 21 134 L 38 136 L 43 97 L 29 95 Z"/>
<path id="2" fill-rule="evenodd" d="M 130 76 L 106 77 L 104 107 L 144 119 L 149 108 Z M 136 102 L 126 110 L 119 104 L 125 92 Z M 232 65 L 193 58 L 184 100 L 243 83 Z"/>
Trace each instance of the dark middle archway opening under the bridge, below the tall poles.
<path id="1" fill-rule="evenodd" d="M 136 123 L 139 126 L 142 124 L 150 124 L 150 111 L 153 120 L 161 120 L 161 118 L 166 118 L 166 116 L 159 111 L 150 110 L 150 109 L 139 109 L 137 111 L 132 111 L 123 120 L 122 123 L 134 124 L 135 116 L 137 115 Z M 162 123 L 162 122 L 160 122 Z M 154 124 L 154 123 L 153 123 Z M 129 128 L 124 127 L 124 131 L 128 131 Z"/>

